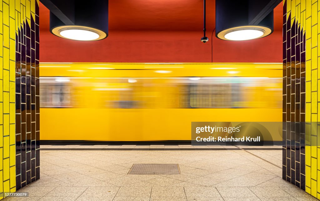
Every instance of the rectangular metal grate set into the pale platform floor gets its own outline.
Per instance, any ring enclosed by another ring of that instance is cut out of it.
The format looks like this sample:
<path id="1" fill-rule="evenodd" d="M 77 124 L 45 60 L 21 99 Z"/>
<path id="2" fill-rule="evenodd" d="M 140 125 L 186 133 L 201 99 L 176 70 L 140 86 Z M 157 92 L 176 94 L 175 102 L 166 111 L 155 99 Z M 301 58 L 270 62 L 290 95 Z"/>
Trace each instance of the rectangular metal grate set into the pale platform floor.
<path id="1" fill-rule="evenodd" d="M 133 164 L 128 174 L 180 174 L 178 164 Z"/>

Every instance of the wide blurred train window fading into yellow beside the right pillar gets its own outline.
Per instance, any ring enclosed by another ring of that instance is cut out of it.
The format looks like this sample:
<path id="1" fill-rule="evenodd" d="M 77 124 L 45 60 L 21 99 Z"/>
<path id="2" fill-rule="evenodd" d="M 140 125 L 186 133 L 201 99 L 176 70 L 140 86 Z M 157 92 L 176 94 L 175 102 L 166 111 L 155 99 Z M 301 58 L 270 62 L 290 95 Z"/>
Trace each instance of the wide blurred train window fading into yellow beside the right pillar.
<path id="1" fill-rule="evenodd" d="M 269 78 L 181 79 L 180 108 L 281 107 L 281 80 Z M 279 86 L 278 86 L 279 85 Z"/>

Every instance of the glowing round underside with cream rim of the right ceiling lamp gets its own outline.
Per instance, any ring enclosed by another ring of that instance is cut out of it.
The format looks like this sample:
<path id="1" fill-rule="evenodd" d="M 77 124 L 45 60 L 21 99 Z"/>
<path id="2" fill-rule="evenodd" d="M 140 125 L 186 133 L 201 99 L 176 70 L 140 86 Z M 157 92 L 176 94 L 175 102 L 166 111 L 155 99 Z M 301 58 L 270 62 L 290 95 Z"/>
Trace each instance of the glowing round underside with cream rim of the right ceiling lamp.
<path id="1" fill-rule="evenodd" d="M 218 37 L 223 40 L 228 41 L 246 41 L 257 38 L 265 37 L 271 34 L 272 31 L 268 27 L 262 26 L 243 26 L 243 27 L 233 27 L 221 31 Z"/>

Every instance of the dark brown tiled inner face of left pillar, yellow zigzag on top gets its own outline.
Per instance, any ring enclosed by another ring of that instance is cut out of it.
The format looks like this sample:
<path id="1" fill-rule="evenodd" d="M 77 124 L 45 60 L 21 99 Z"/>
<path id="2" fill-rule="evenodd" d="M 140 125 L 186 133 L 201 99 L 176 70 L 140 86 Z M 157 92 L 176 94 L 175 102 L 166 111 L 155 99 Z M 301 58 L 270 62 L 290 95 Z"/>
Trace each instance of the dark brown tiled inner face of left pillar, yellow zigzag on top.
<path id="1" fill-rule="evenodd" d="M 39 2 L 16 2 L 16 187 L 40 178 Z M 19 5 L 18 5 L 19 4 Z"/>

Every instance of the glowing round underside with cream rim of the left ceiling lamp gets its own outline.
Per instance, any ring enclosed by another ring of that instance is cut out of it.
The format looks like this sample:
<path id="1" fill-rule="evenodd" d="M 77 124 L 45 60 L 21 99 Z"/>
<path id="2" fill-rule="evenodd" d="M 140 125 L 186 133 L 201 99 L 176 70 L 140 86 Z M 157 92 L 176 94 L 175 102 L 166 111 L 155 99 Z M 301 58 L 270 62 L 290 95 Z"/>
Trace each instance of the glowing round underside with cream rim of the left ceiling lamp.
<path id="1" fill-rule="evenodd" d="M 51 32 L 61 38 L 77 41 L 97 41 L 107 37 L 107 34 L 99 29 L 84 26 L 59 26 Z"/>

